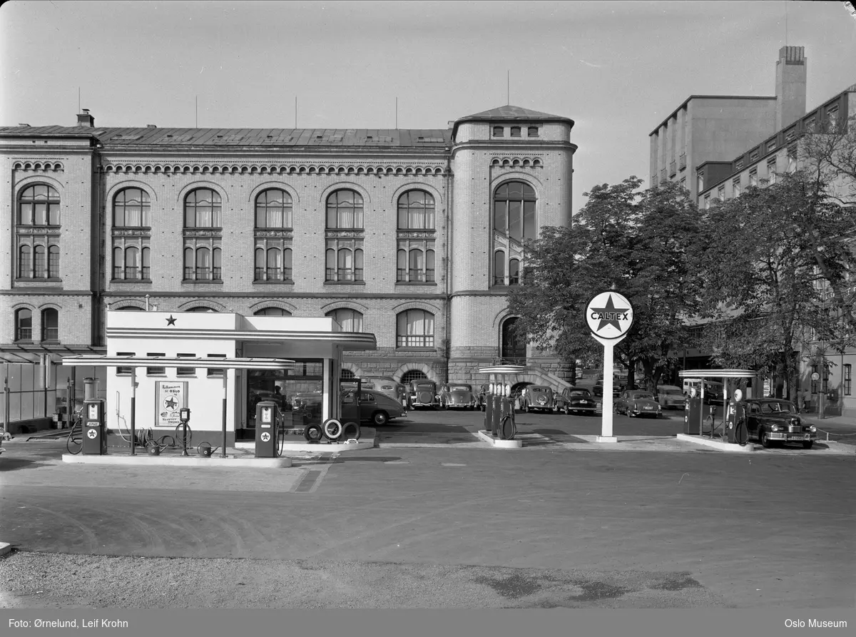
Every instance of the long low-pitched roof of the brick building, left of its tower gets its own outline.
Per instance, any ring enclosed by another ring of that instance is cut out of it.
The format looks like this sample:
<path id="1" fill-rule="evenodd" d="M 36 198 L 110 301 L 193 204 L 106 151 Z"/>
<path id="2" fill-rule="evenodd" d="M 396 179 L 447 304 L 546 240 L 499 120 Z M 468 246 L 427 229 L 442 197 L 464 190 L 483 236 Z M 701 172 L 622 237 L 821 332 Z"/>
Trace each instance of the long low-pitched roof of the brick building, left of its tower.
<path id="1" fill-rule="evenodd" d="M 104 146 L 449 146 L 448 128 L 85 128 L 7 126 L 3 135 L 95 137 Z"/>

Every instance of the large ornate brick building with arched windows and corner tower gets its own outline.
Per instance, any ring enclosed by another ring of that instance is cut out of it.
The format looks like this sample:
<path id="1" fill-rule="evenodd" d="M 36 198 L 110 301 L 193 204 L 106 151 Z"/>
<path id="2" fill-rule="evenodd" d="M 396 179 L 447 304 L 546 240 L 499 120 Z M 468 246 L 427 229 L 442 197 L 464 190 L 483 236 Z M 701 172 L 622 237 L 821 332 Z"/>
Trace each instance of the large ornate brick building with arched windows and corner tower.
<path id="1" fill-rule="evenodd" d="M 561 384 L 505 295 L 523 242 L 570 223 L 573 126 L 502 106 L 432 130 L 0 128 L 0 353 L 38 392 L 33 364 L 104 352 L 107 307 L 330 316 L 377 336 L 358 376 L 525 359 Z"/>

